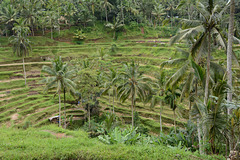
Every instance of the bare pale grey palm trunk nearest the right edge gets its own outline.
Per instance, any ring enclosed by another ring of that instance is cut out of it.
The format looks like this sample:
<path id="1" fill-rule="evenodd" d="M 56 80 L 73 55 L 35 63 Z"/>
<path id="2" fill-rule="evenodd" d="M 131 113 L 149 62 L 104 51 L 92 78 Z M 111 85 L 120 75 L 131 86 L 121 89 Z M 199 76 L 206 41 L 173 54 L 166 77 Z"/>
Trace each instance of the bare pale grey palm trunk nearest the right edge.
<path id="1" fill-rule="evenodd" d="M 234 11 L 235 11 L 235 1 L 231 0 L 230 7 L 230 17 L 229 17 L 229 29 L 228 29 L 228 46 L 227 46 L 227 75 L 228 75 L 228 85 L 232 88 L 232 44 L 234 35 Z M 232 92 L 228 92 L 227 100 L 232 102 Z M 228 109 L 228 114 L 230 114 L 230 109 Z"/>

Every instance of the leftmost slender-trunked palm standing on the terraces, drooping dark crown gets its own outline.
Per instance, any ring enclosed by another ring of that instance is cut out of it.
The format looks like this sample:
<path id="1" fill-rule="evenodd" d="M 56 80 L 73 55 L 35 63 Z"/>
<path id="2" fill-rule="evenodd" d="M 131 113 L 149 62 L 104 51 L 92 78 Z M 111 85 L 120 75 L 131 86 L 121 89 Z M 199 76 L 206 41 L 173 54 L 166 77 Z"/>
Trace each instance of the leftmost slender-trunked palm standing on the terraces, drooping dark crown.
<path id="1" fill-rule="evenodd" d="M 23 73 L 25 79 L 25 85 L 27 85 L 27 76 L 24 64 L 24 57 L 29 55 L 29 52 L 32 50 L 30 41 L 27 38 L 27 35 L 30 31 L 29 27 L 23 25 L 23 20 L 19 21 L 19 24 L 16 24 L 13 30 L 16 32 L 16 36 L 10 38 L 10 43 L 13 44 L 13 53 L 17 56 L 23 58 Z"/>

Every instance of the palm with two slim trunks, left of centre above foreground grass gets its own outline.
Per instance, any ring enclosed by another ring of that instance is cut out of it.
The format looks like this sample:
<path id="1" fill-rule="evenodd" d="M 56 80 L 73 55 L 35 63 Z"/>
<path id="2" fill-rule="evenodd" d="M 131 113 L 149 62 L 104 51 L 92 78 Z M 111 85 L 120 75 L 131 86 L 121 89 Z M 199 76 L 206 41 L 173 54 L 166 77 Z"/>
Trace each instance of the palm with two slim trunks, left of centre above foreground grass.
<path id="1" fill-rule="evenodd" d="M 64 97 L 66 90 L 70 90 L 75 93 L 75 83 L 72 81 L 74 74 L 73 70 L 68 69 L 68 64 L 64 64 L 61 57 L 57 57 L 52 61 L 52 66 L 43 66 L 42 72 L 49 75 L 42 82 L 46 84 L 45 90 L 56 88 L 56 94 L 58 94 L 59 100 L 59 127 L 61 126 L 61 91 L 64 91 Z M 64 98 L 65 101 L 65 98 Z M 65 102 L 64 102 L 65 104 Z M 65 105 L 64 105 L 65 106 Z M 65 114 L 66 116 L 66 114 Z M 66 121 L 66 117 L 65 117 Z M 66 122 L 65 122 L 66 127 Z"/>

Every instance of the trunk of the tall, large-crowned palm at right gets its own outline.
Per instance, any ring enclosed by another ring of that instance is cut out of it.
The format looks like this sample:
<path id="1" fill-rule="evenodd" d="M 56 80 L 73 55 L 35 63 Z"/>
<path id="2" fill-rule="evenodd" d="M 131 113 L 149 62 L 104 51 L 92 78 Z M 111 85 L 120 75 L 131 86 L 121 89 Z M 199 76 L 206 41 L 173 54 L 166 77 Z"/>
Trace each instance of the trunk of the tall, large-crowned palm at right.
<path id="1" fill-rule="evenodd" d="M 209 80 L 210 80 L 210 56 L 211 56 L 211 33 L 208 32 L 208 54 L 207 54 L 207 76 L 205 84 L 205 96 L 204 96 L 204 105 L 207 105 L 208 101 L 208 89 L 209 89 Z"/>

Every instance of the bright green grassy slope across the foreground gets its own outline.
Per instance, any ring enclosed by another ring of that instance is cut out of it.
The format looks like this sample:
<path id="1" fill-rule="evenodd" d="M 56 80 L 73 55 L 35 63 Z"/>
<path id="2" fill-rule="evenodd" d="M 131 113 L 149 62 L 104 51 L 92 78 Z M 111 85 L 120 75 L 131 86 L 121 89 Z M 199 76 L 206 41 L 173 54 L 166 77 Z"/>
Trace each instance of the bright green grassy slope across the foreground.
<path id="1" fill-rule="evenodd" d="M 57 139 L 43 130 L 72 137 Z M 63 130 L 53 125 L 27 130 L 0 128 L 0 133 L 0 159 L 224 159 L 162 145 L 105 145 L 89 139 L 81 130 Z"/>

